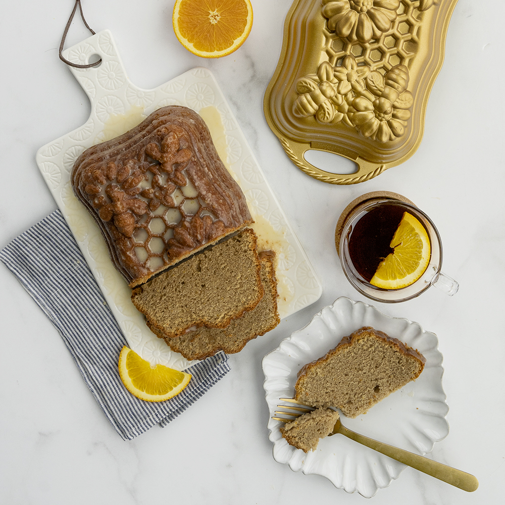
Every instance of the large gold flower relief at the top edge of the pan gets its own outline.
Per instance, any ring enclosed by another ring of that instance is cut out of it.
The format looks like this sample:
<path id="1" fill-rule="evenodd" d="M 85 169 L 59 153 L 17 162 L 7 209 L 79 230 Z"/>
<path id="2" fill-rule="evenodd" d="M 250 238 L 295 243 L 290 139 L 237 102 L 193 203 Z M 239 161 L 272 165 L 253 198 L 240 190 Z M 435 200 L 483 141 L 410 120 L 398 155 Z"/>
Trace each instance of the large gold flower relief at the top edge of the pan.
<path id="1" fill-rule="evenodd" d="M 321 0 L 328 30 L 349 42 L 367 43 L 391 29 L 399 0 Z"/>

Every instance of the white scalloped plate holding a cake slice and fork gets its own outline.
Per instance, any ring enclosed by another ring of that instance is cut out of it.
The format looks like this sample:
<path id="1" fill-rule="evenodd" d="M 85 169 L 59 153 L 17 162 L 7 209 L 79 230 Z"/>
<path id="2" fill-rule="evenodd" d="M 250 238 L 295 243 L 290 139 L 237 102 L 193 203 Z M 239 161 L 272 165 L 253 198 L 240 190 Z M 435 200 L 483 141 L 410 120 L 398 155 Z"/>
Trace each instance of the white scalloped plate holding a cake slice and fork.
<path id="1" fill-rule="evenodd" d="M 270 417 L 275 415 L 279 398 L 293 396 L 296 376 L 302 366 L 324 356 L 342 337 L 362 326 L 372 326 L 418 349 L 426 358 L 426 365 L 416 381 L 383 399 L 367 414 L 356 419 L 341 415 L 342 424 L 411 452 L 421 455 L 430 452 L 433 444 L 449 432 L 445 419 L 448 407 L 442 388 L 442 355 L 436 335 L 424 331 L 418 323 L 386 316 L 375 307 L 345 297 L 325 307 L 305 328 L 292 333 L 263 358 L 263 386 Z M 374 496 L 405 468 L 342 435 L 320 440 L 317 449 L 306 454 L 282 438 L 280 426 L 273 419 L 267 424 L 275 461 L 288 464 L 296 472 L 327 477 L 333 485 L 349 493 L 358 491 L 365 497 Z"/>

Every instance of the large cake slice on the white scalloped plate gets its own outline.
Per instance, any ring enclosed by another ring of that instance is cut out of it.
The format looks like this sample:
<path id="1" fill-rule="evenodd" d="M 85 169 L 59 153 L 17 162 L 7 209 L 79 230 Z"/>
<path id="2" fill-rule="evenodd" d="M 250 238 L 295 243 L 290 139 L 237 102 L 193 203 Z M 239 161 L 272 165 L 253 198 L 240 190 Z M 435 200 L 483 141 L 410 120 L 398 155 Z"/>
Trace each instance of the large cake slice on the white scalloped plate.
<path id="1" fill-rule="evenodd" d="M 417 379 L 425 363 L 417 350 L 363 327 L 298 372 L 295 398 L 313 407 L 338 407 L 354 418 Z"/>

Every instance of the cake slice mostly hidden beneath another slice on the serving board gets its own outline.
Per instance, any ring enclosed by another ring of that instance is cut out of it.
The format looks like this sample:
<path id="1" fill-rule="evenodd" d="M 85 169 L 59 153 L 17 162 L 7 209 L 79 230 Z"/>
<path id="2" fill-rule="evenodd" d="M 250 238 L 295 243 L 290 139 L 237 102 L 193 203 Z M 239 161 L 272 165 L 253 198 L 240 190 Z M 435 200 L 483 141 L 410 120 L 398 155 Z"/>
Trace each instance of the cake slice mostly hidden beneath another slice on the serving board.
<path id="1" fill-rule="evenodd" d="M 214 356 L 218 350 L 227 354 L 239 352 L 249 340 L 264 335 L 280 322 L 277 312 L 274 255 L 272 251 L 262 251 L 259 254 L 263 298 L 254 309 L 244 312 L 238 319 L 233 319 L 226 328 L 201 327 L 174 338 L 165 336 L 156 328 L 151 329 L 164 338 L 172 350 L 179 352 L 187 360 L 205 360 Z"/>

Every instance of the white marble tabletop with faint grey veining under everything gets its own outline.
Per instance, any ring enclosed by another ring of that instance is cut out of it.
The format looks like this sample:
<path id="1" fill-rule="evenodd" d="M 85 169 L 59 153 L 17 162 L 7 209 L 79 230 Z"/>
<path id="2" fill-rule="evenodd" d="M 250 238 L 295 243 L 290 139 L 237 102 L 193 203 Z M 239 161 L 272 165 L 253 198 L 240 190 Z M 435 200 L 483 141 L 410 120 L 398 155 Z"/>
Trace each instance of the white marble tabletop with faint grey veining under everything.
<path id="1" fill-rule="evenodd" d="M 441 0 L 442 2 L 444 0 Z M 3 2 L 0 124 L 0 247 L 56 209 L 35 164 L 36 150 L 83 124 L 88 100 L 58 59 L 71 0 Z M 58 332 L 0 264 L 0 502 L 6 504 L 358 503 L 325 478 L 292 472 L 272 458 L 261 359 L 338 296 L 368 301 L 345 280 L 333 245 L 337 218 L 362 193 L 401 193 L 437 224 L 444 271 L 460 290 L 432 288 L 385 314 L 419 322 L 439 337 L 449 435 L 431 457 L 476 475 L 466 493 L 406 469 L 375 503 L 499 503 L 505 481 L 502 420 L 505 345 L 502 20 L 499 0 L 460 0 L 426 131 L 405 164 L 353 186 L 332 186 L 296 169 L 263 115 L 290 0 L 252 0 L 254 25 L 234 54 L 202 60 L 172 29 L 173 0 L 83 0 L 90 26 L 109 28 L 130 79 L 153 88 L 195 66 L 216 76 L 316 271 L 323 295 L 230 358 L 232 371 L 167 428 L 131 442 L 113 431 Z M 80 20 L 67 47 L 89 32 Z"/>

